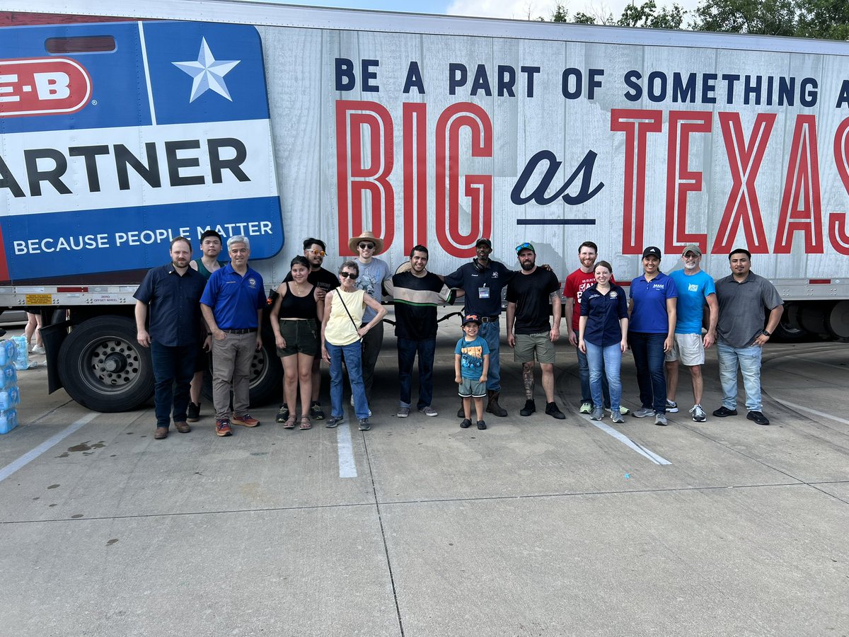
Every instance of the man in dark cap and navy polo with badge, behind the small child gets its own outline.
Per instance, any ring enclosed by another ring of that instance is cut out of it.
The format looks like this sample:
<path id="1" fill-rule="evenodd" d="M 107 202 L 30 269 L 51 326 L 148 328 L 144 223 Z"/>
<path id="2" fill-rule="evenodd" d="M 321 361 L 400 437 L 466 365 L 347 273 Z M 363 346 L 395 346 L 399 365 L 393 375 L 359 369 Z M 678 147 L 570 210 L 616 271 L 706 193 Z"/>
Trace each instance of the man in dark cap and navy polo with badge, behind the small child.
<path id="1" fill-rule="evenodd" d="M 497 416 L 506 416 L 507 409 L 498 404 L 501 393 L 501 365 L 498 353 L 501 338 L 501 290 L 515 272 L 507 269 L 503 263 L 492 261 L 492 241 L 481 238 L 475 243 L 477 256 L 472 262 L 457 268 L 445 278 L 449 288 L 462 288 L 465 292 L 464 314 L 477 314 L 481 317 L 481 330 L 478 334 L 489 346 L 489 373 L 486 375 L 486 411 Z M 465 411 L 460 406 L 458 418 L 464 418 Z"/>

